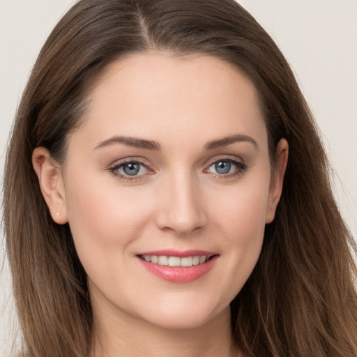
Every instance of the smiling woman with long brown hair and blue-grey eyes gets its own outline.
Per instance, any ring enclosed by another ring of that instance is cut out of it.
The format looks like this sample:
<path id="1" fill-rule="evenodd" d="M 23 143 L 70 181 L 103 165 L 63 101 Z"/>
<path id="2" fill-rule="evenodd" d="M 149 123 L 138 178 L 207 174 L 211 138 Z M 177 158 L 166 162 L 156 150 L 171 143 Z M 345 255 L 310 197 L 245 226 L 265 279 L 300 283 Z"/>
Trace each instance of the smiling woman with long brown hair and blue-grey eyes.
<path id="1" fill-rule="evenodd" d="M 356 356 L 314 121 L 234 1 L 79 1 L 6 162 L 24 355 Z"/>

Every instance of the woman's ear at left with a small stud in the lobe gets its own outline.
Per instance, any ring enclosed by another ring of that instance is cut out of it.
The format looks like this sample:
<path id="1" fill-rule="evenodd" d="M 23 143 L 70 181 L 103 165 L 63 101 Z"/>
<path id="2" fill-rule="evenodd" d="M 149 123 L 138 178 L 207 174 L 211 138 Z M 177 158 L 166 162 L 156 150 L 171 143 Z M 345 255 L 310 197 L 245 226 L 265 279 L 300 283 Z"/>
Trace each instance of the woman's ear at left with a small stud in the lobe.
<path id="1" fill-rule="evenodd" d="M 33 151 L 32 165 L 52 219 L 59 225 L 64 225 L 68 222 L 68 215 L 61 168 L 55 165 L 50 153 L 43 147 L 38 147 Z"/>

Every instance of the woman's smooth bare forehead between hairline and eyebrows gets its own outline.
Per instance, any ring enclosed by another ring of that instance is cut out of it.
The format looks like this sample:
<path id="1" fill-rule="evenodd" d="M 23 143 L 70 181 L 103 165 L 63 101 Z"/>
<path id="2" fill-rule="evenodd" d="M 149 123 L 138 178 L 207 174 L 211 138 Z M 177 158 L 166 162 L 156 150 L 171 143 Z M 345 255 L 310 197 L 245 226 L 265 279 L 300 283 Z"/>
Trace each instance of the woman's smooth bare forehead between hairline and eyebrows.
<path id="1" fill-rule="evenodd" d="M 93 88 L 86 140 L 113 135 L 202 144 L 235 133 L 266 139 L 255 86 L 214 56 L 132 54 L 108 66 Z M 199 133 L 199 135 L 197 135 Z"/>

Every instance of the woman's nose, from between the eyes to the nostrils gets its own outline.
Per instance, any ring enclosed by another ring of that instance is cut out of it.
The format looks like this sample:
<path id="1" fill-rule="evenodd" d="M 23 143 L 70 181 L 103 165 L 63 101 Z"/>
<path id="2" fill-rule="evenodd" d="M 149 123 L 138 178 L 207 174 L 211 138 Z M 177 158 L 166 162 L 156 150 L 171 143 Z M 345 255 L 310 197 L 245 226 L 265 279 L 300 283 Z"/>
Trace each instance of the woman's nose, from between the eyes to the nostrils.
<path id="1" fill-rule="evenodd" d="M 167 179 L 160 187 L 156 222 L 160 229 L 183 236 L 206 226 L 202 188 L 190 174 Z"/>

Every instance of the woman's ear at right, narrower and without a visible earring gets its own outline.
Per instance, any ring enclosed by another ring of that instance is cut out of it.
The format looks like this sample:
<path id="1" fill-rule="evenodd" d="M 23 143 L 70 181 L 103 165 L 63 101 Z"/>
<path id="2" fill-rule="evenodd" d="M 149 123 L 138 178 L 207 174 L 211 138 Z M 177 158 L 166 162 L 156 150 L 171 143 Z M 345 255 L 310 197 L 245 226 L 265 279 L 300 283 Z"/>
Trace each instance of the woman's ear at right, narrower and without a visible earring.
<path id="1" fill-rule="evenodd" d="M 282 184 L 285 170 L 287 169 L 287 158 L 289 154 L 289 144 L 286 139 L 281 139 L 275 153 L 275 165 L 271 173 L 271 183 L 269 186 L 268 202 L 266 206 L 266 223 L 271 223 L 275 217 L 280 196 L 282 195 Z"/>

